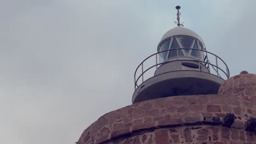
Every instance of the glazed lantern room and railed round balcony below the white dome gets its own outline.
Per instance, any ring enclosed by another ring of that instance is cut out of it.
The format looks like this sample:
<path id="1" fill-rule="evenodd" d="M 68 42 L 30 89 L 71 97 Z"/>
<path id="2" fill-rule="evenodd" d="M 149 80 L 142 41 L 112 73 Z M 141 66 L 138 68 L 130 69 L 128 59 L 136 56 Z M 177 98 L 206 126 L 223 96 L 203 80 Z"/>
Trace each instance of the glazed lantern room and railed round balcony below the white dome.
<path id="1" fill-rule="evenodd" d="M 134 75 L 132 103 L 175 95 L 217 94 L 229 77 L 226 63 L 201 40 L 179 35 L 163 40 Z"/>

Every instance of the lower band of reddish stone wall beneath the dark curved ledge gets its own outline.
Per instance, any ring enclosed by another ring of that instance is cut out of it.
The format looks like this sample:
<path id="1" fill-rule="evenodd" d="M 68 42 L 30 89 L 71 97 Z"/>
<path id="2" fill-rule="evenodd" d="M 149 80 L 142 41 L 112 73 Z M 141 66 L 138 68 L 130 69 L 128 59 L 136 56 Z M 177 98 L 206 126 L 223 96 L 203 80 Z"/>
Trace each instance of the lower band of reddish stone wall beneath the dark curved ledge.
<path id="1" fill-rule="evenodd" d="M 107 142 L 107 144 L 167 144 L 167 143 L 253 143 L 252 132 L 239 129 L 229 129 L 214 125 L 194 125 L 176 128 L 159 128 L 146 133 L 135 133 L 128 137 Z"/>

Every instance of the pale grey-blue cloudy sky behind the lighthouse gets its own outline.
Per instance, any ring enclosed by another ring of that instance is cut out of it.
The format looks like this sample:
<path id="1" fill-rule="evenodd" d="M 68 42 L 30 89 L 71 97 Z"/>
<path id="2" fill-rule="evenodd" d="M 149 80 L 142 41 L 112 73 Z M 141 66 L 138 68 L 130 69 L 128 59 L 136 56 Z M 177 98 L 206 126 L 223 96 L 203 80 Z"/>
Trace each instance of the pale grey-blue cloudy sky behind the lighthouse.
<path id="1" fill-rule="evenodd" d="M 0 143 L 74 143 L 130 105 L 176 5 L 231 76 L 256 73 L 256 1 L 0 0 Z"/>

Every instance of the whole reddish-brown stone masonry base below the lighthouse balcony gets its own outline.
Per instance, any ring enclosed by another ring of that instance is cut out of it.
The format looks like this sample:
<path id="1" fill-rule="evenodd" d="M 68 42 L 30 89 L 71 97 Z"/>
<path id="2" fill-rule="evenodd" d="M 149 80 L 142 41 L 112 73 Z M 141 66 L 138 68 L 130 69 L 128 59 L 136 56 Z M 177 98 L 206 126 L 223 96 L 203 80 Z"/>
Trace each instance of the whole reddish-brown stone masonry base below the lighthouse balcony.
<path id="1" fill-rule="evenodd" d="M 242 74 L 218 95 L 143 101 L 100 117 L 78 143 L 256 143 L 255 94 L 256 75 Z"/>

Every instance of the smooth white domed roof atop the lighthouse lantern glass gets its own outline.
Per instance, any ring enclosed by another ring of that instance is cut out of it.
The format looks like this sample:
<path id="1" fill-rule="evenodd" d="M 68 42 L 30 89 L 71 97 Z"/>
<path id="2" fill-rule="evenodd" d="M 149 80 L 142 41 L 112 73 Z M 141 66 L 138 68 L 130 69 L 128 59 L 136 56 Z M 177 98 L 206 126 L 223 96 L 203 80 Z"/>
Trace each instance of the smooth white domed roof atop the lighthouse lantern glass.
<path id="1" fill-rule="evenodd" d="M 176 27 L 176 28 L 172 28 L 170 29 L 168 32 L 166 32 L 164 34 L 164 36 L 162 36 L 161 42 L 167 38 L 173 37 L 173 36 L 178 36 L 178 35 L 185 35 L 188 37 L 193 37 L 195 39 L 200 40 L 202 43 L 202 39 L 199 37 L 198 34 L 196 34 L 195 32 L 191 31 L 188 28 L 184 28 L 184 27 Z"/>

